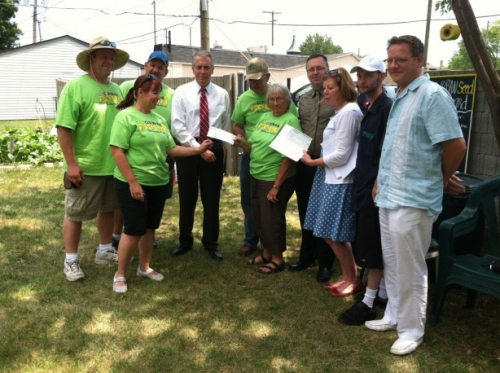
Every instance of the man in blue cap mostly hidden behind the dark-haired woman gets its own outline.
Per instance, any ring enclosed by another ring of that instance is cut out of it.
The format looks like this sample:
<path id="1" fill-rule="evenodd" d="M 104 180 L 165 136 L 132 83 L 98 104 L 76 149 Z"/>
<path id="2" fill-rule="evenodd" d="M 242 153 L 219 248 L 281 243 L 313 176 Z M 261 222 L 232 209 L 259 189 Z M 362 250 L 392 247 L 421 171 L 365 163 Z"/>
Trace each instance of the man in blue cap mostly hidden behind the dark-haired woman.
<path id="1" fill-rule="evenodd" d="M 172 97 L 174 96 L 174 90 L 166 85 L 163 80 L 168 74 L 168 56 L 162 51 L 154 51 L 149 55 L 147 62 L 144 64 L 144 71 L 146 74 L 152 74 L 160 81 L 162 84 L 162 89 L 160 92 L 160 99 L 156 104 L 156 108 L 152 111 L 161 115 L 165 119 L 165 123 L 167 124 L 170 132 L 171 130 L 171 122 L 172 122 Z M 120 85 L 120 89 L 122 91 L 123 97 L 125 97 L 130 90 L 130 88 L 134 87 L 135 80 L 128 80 L 123 82 Z M 175 160 L 170 156 L 167 156 L 167 163 L 169 168 L 169 184 L 168 184 L 168 197 L 172 197 L 173 192 L 173 184 L 175 180 L 175 169 L 174 163 Z M 123 219 L 121 216 L 121 211 L 117 211 L 115 214 L 115 226 L 113 229 L 113 246 L 118 247 L 118 242 L 120 241 L 121 231 L 123 226 Z M 155 247 L 158 246 L 158 241 L 154 243 Z"/>

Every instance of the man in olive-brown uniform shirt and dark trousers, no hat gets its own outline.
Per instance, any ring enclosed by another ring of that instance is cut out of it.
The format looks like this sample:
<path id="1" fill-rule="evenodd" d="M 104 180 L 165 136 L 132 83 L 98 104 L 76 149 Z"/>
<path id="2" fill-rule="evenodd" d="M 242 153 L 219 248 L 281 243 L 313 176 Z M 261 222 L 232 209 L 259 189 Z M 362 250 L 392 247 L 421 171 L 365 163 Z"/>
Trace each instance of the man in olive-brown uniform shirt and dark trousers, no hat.
<path id="1" fill-rule="evenodd" d="M 323 76 L 328 71 L 328 60 L 322 54 L 313 54 L 306 61 L 307 77 L 311 82 L 312 89 L 300 97 L 299 120 L 302 131 L 312 138 L 309 146 L 311 158 L 319 158 L 321 143 L 323 142 L 323 131 L 335 114 L 335 109 L 325 102 L 323 96 Z M 303 228 L 306 217 L 309 194 L 311 194 L 312 183 L 316 167 L 306 166 L 297 162 L 297 174 L 295 177 L 295 194 L 299 209 L 300 227 L 302 228 L 302 243 L 300 245 L 299 261 L 290 264 L 290 271 L 301 271 L 314 265 L 318 260 L 318 282 L 328 282 L 331 277 L 331 268 L 335 255 L 323 238 L 315 237 L 313 232 Z"/>

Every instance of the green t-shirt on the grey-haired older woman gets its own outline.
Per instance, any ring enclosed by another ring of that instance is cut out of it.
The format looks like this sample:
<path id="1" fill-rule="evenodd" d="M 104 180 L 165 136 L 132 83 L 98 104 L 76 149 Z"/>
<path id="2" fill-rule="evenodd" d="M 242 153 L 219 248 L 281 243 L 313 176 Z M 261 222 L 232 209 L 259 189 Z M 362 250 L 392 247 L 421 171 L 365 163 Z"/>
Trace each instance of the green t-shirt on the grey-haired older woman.
<path id="1" fill-rule="evenodd" d="M 283 126 L 288 124 L 302 132 L 299 120 L 295 115 L 287 112 L 280 117 L 275 117 L 272 112 L 264 113 L 255 127 L 252 136 L 248 139 L 252 143 L 250 152 L 250 174 L 264 181 L 274 181 L 278 175 L 284 155 L 277 152 L 269 145 L 281 131 Z M 295 166 L 288 174 L 288 177 L 295 175 Z"/>

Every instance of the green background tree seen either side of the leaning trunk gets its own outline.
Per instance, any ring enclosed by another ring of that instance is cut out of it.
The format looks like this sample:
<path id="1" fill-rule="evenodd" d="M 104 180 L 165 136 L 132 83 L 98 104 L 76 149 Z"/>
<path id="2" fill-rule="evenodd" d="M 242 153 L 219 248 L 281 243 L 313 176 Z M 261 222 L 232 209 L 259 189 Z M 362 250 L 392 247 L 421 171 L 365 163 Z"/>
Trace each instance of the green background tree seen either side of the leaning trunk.
<path id="1" fill-rule="evenodd" d="M 481 34 L 495 68 L 500 69 L 500 21 L 494 22 L 489 29 L 483 30 Z M 474 68 L 463 41 L 458 43 L 458 51 L 453 54 L 453 57 L 448 64 L 448 68 L 451 70 L 466 70 Z"/>

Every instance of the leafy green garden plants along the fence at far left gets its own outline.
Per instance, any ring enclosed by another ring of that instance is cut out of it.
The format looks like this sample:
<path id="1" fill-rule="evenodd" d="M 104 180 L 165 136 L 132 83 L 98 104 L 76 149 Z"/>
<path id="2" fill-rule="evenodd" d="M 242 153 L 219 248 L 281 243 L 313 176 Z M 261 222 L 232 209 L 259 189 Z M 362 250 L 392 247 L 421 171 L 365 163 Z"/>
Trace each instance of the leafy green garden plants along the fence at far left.
<path id="1" fill-rule="evenodd" d="M 0 133 L 0 164 L 62 161 L 57 137 L 31 128 L 6 128 Z"/>

